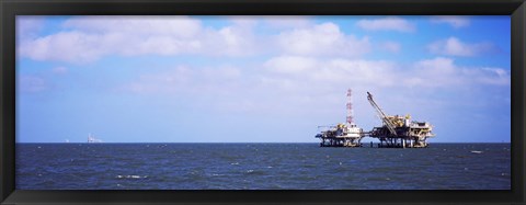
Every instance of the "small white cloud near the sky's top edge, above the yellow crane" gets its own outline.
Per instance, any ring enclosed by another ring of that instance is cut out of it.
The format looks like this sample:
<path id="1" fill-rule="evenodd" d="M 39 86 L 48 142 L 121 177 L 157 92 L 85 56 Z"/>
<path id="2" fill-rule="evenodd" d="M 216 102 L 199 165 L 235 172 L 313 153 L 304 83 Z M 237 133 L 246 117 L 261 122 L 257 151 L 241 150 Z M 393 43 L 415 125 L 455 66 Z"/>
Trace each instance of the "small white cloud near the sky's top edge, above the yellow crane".
<path id="1" fill-rule="evenodd" d="M 361 20 L 357 25 L 367 31 L 397 31 L 397 32 L 414 32 L 416 27 L 397 16 L 389 16 L 377 20 Z"/>

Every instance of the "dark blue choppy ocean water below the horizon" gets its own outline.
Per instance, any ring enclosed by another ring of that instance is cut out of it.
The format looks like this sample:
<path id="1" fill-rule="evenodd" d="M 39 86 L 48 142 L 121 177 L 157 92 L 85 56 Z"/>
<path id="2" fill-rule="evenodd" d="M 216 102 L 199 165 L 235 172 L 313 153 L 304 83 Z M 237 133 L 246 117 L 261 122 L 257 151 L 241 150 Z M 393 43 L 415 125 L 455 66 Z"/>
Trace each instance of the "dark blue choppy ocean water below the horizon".
<path id="1" fill-rule="evenodd" d="M 18 144 L 18 190 L 510 190 L 510 144 Z"/>

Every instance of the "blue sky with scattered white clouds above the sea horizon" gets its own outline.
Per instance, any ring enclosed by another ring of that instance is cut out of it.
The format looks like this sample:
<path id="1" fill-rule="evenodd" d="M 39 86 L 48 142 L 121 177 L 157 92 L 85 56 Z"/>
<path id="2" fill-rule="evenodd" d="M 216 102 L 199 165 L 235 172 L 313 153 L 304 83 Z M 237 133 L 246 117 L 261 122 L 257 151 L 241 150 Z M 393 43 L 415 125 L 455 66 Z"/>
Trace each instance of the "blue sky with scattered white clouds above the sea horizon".
<path id="1" fill-rule="evenodd" d="M 16 18 L 16 141 L 318 143 L 389 115 L 511 139 L 510 16 Z M 364 138 L 363 143 L 376 141 Z"/>

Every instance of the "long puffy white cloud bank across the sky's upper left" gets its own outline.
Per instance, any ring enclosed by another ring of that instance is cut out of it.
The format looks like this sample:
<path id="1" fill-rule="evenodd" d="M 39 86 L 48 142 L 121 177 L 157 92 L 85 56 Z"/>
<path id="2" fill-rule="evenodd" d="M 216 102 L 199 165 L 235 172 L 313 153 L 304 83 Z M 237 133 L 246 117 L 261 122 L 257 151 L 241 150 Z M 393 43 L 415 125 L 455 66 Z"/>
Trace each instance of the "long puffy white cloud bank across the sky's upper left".
<path id="1" fill-rule="evenodd" d="M 214 30 L 186 16 L 82 16 L 62 26 L 62 32 L 24 39 L 20 54 L 83 64 L 114 54 L 243 56 L 259 50 L 250 24 L 242 21 Z"/>

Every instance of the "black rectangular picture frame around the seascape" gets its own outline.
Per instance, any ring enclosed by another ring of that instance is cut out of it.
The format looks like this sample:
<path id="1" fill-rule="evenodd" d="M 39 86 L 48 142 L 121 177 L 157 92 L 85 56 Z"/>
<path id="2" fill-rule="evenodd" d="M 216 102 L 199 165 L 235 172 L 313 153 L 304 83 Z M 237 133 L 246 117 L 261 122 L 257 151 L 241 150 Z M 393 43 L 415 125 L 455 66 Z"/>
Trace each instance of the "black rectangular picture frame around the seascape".
<path id="1" fill-rule="evenodd" d="M 524 0 L 2 0 L 0 202 L 2 204 L 524 204 L 526 8 Z M 16 15 L 511 15 L 511 191 L 22 191 L 15 190 Z"/>

